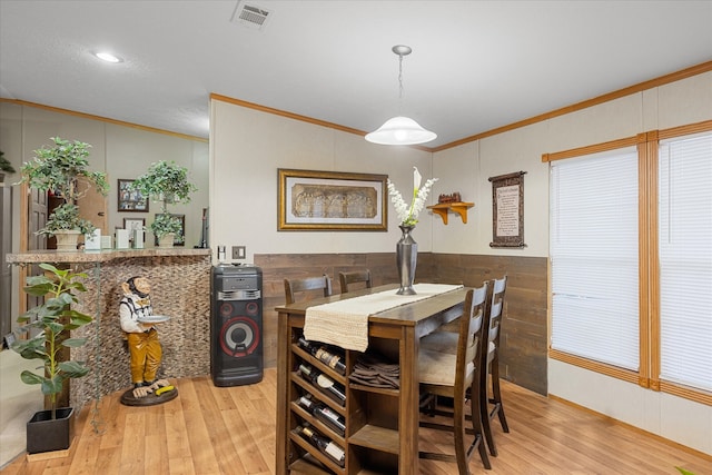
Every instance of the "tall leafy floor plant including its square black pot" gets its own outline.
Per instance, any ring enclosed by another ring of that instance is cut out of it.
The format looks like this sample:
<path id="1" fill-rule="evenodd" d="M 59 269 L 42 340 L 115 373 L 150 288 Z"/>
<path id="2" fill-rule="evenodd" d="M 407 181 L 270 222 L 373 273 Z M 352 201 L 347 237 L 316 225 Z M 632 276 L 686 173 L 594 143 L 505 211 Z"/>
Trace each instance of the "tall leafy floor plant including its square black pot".
<path id="1" fill-rule="evenodd" d="M 30 454 L 69 448 L 73 408 L 57 408 L 57 395 L 62 392 L 65 380 L 85 376 L 89 368 L 83 362 L 63 357 L 62 353 L 65 348 L 85 345 L 86 338 L 71 338 L 70 331 L 92 321 L 89 315 L 71 308 L 78 301 L 76 293 L 87 290 L 82 284 L 87 275 L 61 270 L 50 264 L 40 264 L 40 267 L 46 275 L 28 277 L 24 291 L 44 297 L 44 303 L 18 318 L 19 323 L 26 324 L 20 331 L 37 330 L 37 334 L 12 344 L 12 349 L 23 358 L 42 360 L 43 374 L 26 369 L 20 378 L 26 384 L 39 384 L 49 399 L 49 409 L 36 413 L 27 423 L 27 452 Z"/>

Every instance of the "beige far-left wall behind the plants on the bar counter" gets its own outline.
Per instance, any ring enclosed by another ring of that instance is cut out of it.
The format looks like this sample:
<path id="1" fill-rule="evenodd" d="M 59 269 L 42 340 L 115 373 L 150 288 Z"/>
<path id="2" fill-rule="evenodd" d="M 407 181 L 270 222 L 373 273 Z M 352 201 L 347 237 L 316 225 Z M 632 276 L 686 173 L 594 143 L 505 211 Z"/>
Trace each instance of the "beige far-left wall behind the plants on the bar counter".
<path id="1" fill-rule="evenodd" d="M 56 136 L 91 144 L 91 169 L 108 174 L 111 186 L 107 197 L 109 229 L 102 229 L 103 235 L 113 234 L 116 227 L 123 227 L 123 218 L 146 218 L 148 226 L 158 210 L 158 204 L 151 204 L 150 212 L 118 212 L 118 178 L 136 178 L 144 174 L 151 162 L 158 160 L 174 160 L 187 167 L 198 191 L 189 205 L 176 206 L 171 208 L 171 212 L 186 215 L 186 246 L 192 247 L 200 241 L 202 208 L 208 207 L 207 142 L 36 107 L 0 102 L 0 150 L 17 171 L 23 161 L 32 159 L 32 150 L 50 145 L 50 137 Z M 6 181 L 10 182 L 19 179 L 19 172 L 6 177 Z M 19 250 L 19 205 L 20 189 L 13 187 L 13 251 Z M 147 239 L 147 246 L 152 245 L 151 239 Z M 17 269 L 13 270 L 12 288 L 19 288 Z M 12 315 L 17 313 L 17 301 L 13 301 Z M 12 318 L 13 327 L 14 320 L 16 318 Z"/>

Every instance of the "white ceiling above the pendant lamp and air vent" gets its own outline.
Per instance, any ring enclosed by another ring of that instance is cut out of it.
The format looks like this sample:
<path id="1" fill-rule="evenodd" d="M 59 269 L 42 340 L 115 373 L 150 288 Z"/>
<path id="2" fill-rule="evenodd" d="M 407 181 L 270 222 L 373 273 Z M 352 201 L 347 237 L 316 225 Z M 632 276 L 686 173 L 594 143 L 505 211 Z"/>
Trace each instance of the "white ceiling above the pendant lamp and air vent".
<path id="1" fill-rule="evenodd" d="M 712 60 L 710 0 L 245 3 L 261 30 L 237 0 L 0 0 L 0 95 L 205 138 L 211 92 L 363 131 L 402 112 L 437 147 Z"/>

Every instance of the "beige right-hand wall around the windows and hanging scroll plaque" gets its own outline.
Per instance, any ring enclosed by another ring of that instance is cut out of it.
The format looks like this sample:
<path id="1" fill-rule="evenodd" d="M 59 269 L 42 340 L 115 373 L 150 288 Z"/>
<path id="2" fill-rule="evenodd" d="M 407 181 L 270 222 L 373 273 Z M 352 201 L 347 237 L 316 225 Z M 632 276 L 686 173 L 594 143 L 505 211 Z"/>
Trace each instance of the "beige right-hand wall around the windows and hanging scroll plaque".
<path id="1" fill-rule="evenodd" d="M 454 189 L 469 186 L 479 206 L 471 210 L 472 225 L 435 226 L 433 250 L 547 256 L 548 166 L 542 164 L 542 154 L 710 119 L 712 73 L 708 72 L 435 154 L 435 175 L 457 184 Z M 487 178 L 518 170 L 527 172 L 524 229 L 528 247 L 491 249 L 492 189 Z M 455 229 L 458 232 L 453 232 Z M 547 369 L 550 394 L 712 454 L 712 407 L 557 360 L 550 359 Z"/>

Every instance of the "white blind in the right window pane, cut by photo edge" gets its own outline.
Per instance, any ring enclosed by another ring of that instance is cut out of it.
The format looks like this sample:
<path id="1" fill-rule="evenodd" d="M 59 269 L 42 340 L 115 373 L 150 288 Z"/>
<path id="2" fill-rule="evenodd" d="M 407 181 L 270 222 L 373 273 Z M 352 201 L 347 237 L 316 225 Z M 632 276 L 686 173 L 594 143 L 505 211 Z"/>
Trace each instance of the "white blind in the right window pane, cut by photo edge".
<path id="1" fill-rule="evenodd" d="M 659 152 L 660 378 L 712 390 L 712 135 Z"/>

